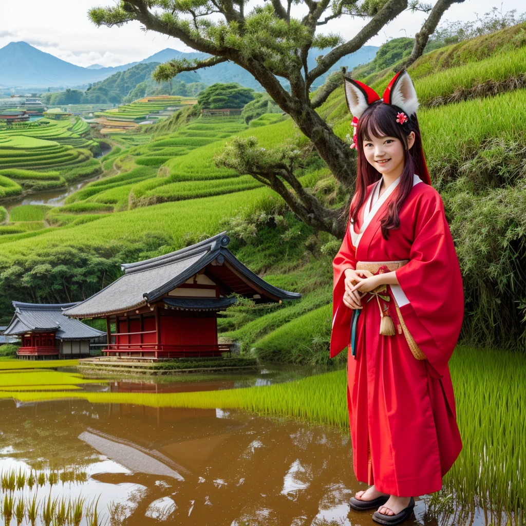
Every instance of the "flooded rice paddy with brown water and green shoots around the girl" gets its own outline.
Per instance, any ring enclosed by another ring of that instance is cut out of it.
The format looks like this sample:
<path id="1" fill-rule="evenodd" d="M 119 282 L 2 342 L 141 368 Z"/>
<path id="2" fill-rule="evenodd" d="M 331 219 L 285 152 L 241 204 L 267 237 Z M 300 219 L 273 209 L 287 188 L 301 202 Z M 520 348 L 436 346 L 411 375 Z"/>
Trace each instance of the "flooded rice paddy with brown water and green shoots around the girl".
<path id="1" fill-rule="evenodd" d="M 86 378 L 76 363 L 0 361 L 6 524 L 94 524 L 95 504 L 99 524 L 370 523 L 347 503 L 365 484 L 344 370 Z M 450 365 L 464 448 L 413 523 L 520 526 L 524 359 L 461 348 Z"/>

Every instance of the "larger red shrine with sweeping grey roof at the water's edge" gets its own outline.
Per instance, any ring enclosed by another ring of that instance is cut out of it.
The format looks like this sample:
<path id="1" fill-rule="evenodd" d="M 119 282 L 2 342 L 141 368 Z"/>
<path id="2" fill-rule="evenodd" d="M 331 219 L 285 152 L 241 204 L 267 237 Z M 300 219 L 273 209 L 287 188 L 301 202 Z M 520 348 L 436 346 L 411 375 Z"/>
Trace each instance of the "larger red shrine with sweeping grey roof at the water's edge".
<path id="1" fill-rule="evenodd" d="M 235 304 L 232 293 L 256 303 L 301 297 L 259 278 L 227 249 L 229 242 L 221 232 L 170 254 L 122 265 L 124 276 L 64 314 L 105 318 L 106 356 L 221 356 L 230 345 L 218 343 L 217 318 Z"/>

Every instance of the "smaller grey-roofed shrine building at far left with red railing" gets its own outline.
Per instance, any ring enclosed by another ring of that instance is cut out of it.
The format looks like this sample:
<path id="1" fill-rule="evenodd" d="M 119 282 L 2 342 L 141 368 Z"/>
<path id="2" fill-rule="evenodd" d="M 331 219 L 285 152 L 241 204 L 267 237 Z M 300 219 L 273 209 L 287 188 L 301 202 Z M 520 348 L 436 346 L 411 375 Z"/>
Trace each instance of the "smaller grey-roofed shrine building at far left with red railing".
<path id="1" fill-rule="evenodd" d="M 19 358 L 79 358 L 89 356 L 89 340 L 105 332 L 78 320 L 66 318 L 62 311 L 76 303 L 44 305 L 13 301 L 15 315 L 3 336 L 18 336 L 22 346 Z"/>

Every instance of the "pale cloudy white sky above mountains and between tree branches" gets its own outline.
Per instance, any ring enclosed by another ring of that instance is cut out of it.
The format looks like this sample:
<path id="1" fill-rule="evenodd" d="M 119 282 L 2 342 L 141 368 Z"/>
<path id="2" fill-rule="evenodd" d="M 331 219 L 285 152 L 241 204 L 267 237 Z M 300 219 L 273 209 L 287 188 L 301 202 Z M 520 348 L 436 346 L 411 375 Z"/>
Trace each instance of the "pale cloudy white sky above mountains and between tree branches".
<path id="1" fill-rule="evenodd" d="M 25 41 L 46 53 L 78 66 L 100 64 L 118 66 L 142 60 L 167 47 L 189 52 L 178 39 L 154 32 L 141 31 L 138 22 L 123 27 L 96 27 L 88 20 L 90 7 L 112 5 L 115 0 L 24 0 L 23 6 L 13 0 L 0 0 L 0 47 L 9 42 Z M 261 3 L 261 0 L 255 4 Z M 435 0 L 431 0 L 434 4 Z M 470 21 L 493 7 L 503 12 L 526 11 L 523 0 L 465 0 L 453 4 L 442 17 L 444 21 Z M 301 15 L 303 6 L 298 6 Z M 414 36 L 426 18 L 423 13 L 404 12 L 372 37 L 368 45 L 380 46 L 390 38 Z M 8 23 L 7 23 L 8 21 Z M 321 26 L 321 33 L 339 33 L 346 40 L 365 25 L 361 19 L 341 17 Z"/>

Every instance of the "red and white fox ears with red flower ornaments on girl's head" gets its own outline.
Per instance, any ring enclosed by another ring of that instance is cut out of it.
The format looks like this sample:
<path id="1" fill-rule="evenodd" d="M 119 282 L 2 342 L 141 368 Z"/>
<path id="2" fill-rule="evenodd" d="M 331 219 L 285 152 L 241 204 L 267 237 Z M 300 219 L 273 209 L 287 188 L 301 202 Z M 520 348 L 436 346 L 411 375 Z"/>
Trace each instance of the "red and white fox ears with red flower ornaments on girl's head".
<path id="1" fill-rule="evenodd" d="M 409 117 L 417 113 L 418 98 L 417 92 L 411 77 L 405 69 L 397 73 L 383 92 L 383 98 L 380 98 L 374 89 L 359 80 L 345 76 L 345 98 L 347 106 L 352 113 L 352 126 L 355 128 L 352 137 L 351 148 L 356 148 L 356 128 L 358 127 L 358 119 L 362 113 L 373 103 L 381 100 L 385 104 L 391 104 L 400 108 L 402 111 L 398 113 L 396 122 L 400 125 L 407 123 Z"/>

